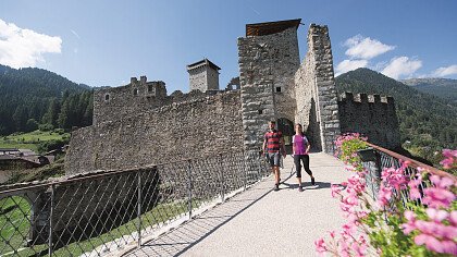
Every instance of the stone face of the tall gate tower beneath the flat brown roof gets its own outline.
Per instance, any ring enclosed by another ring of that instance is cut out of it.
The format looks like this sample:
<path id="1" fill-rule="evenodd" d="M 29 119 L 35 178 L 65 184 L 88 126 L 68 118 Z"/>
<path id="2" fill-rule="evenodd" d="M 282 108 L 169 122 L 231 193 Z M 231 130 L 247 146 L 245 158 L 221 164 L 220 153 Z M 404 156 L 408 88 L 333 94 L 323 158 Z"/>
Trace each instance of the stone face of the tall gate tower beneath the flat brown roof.
<path id="1" fill-rule="evenodd" d="M 238 64 L 245 147 L 259 150 L 270 120 L 294 121 L 297 28 L 238 38 Z"/>

